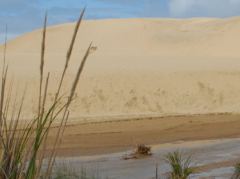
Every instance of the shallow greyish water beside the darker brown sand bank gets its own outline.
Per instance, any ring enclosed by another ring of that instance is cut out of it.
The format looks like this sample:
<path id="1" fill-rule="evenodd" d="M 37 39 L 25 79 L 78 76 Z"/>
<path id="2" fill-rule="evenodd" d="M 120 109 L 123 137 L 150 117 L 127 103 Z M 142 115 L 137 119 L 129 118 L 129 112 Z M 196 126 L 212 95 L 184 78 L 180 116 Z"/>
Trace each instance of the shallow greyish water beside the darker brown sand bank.
<path id="1" fill-rule="evenodd" d="M 167 153 L 179 150 L 183 156 L 192 156 L 191 166 L 195 174 L 191 179 L 231 178 L 234 165 L 240 161 L 240 139 L 203 140 L 167 143 L 152 146 L 153 155 L 141 159 L 123 160 L 130 151 L 97 156 L 58 158 L 57 166 L 63 163 L 79 171 L 85 168 L 88 173 L 109 178 L 152 179 L 156 164 L 160 178 L 167 176 L 170 168 L 164 157 Z"/>

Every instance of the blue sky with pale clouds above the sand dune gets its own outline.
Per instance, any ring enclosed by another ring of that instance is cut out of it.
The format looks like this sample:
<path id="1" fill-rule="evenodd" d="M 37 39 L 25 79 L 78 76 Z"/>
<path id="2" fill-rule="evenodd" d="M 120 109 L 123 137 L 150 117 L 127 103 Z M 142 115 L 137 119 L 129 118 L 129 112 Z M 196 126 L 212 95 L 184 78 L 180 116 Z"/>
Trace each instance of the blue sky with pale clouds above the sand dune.
<path id="1" fill-rule="evenodd" d="M 240 0 L 0 0 L 0 42 L 5 24 L 13 38 L 41 27 L 46 10 L 52 25 L 75 21 L 84 6 L 87 19 L 240 15 Z"/>

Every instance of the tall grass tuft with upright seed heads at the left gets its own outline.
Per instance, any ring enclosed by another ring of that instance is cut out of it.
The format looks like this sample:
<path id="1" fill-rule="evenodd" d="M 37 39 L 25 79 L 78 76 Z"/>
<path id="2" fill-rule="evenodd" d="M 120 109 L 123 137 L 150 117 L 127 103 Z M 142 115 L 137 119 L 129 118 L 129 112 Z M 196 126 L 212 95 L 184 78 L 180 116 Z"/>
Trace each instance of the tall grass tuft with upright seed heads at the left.
<path id="1" fill-rule="evenodd" d="M 76 23 L 72 40 L 66 54 L 66 61 L 60 76 L 59 85 L 55 91 L 54 101 L 47 98 L 48 85 L 51 80 L 50 72 L 45 72 L 45 47 L 47 37 L 47 14 L 44 20 L 41 45 L 41 59 L 39 68 L 39 97 L 38 111 L 35 116 L 26 123 L 22 122 L 24 100 L 26 90 L 21 97 L 13 95 L 14 84 L 8 78 L 8 65 L 6 61 L 7 38 L 4 45 L 2 72 L 0 78 L 0 178 L 1 179 L 35 179 L 39 178 L 43 169 L 46 170 L 43 178 L 50 178 L 57 148 L 61 144 L 61 138 L 69 118 L 69 107 L 72 103 L 77 85 L 85 62 L 89 56 L 91 45 L 79 63 L 78 71 L 72 85 L 69 86 L 69 94 L 62 94 L 63 81 L 68 70 L 78 30 L 84 15 L 83 10 Z M 7 34 L 7 31 L 6 31 Z M 7 36 L 7 35 L 6 35 Z M 50 103 L 48 107 L 46 104 Z M 60 121 L 54 138 L 53 147 L 47 156 L 47 140 L 54 122 Z"/>

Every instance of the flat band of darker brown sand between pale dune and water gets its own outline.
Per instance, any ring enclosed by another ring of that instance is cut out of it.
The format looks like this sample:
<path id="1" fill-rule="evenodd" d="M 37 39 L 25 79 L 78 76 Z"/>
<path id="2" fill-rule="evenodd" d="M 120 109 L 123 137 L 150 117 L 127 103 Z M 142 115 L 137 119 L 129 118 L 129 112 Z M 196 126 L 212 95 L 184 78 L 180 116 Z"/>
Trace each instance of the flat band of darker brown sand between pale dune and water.
<path id="1" fill-rule="evenodd" d="M 61 156 L 97 155 L 183 141 L 240 137 L 239 114 L 208 114 L 68 124 Z M 52 135 L 54 132 L 52 133 Z"/>

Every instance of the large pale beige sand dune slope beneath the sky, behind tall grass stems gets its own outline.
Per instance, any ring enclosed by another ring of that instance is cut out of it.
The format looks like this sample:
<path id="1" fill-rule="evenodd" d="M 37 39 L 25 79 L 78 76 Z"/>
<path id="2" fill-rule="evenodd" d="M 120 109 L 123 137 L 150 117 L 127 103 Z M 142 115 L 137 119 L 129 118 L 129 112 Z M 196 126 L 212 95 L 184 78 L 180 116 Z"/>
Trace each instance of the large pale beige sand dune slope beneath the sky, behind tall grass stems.
<path id="1" fill-rule="evenodd" d="M 51 90 L 73 27 L 48 29 Z M 91 41 L 97 49 L 81 78 L 73 117 L 239 112 L 239 29 L 240 18 L 84 21 L 65 84 L 72 82 Z M 28 82 L 26 117 L 36 110 L 40 44 L 40 30 L 8 43 L 10 73 L 20 88 Z M 53 95 L 50 92 L 49 98 Z"/>

